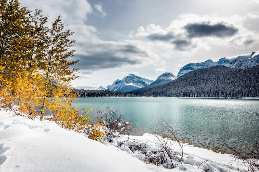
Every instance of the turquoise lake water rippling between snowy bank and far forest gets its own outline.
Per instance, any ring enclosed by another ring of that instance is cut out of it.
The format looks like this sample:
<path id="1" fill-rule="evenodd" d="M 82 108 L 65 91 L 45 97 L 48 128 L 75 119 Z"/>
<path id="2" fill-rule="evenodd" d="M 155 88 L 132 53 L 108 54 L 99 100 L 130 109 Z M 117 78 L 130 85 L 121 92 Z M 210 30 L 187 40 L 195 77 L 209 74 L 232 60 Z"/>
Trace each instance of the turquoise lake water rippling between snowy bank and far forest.
<path id="1" fill-rule="evenodd" d="M 150 132 L 161 118 L 171 121 L 179 138 L 194 144 L 220 147 L 250 145 L 259 140 L 259 99 L 207 99 L 157 97 L 80 97 L 79 109 L 94 112 L 114 107 L 132 122 L 132 135 Z"/>

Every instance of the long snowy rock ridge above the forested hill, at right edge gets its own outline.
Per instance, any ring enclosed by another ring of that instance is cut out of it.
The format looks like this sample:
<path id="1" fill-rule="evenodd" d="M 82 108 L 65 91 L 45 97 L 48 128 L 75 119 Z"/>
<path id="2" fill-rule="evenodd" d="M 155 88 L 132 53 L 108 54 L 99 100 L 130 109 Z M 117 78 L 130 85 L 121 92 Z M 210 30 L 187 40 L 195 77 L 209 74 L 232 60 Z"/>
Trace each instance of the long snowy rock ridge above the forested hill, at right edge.
<path id="1" fill-rule="evenodd" d="M 224 57 L 220 58 L 217 62 L 214 62 L 212 60 L 206 60 L 205 62 L 199 62 L 199 63 L 189 63 L 186 64 L 180 71 L 178 72 L 177 77 L 180 77 L 188 72 L 202 69 L 206 67 L 212 67 L 216 65 L 223 65 L 226 67 L 232 67 L 232 68 L 247 68 L 252 67 L 259 64 L 258 62 L 258 52 L 252 52 L 250 54 L 242 54 L 238 56 L 233 57 Z"/>

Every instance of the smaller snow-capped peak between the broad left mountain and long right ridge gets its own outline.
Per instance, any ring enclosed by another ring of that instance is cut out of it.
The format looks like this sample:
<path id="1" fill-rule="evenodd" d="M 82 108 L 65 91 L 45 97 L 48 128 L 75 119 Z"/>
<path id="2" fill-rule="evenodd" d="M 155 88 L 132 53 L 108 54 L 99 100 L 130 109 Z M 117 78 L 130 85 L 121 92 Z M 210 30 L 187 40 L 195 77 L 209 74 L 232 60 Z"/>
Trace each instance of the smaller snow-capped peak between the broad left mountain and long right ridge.
<path id="1" fill-rule="evenodd" d="M 167 72 L 167 73 L 163 73 L 162 75 L 160 75 L 159 77 L 157 77 L 157 79 L 151 83 L 150 85 L 146 86 L 146 87 L 142 87 L 139 88 L 137 90 L 144 90 L 144 89 L 149 89 L 149 88 L 153 88 L 159 85 L 163 85 L 165 83 L 169 83 L 170 81 L 173 81 L 177 78 L 177 76 L 173 75 L 171 72 Z"/>

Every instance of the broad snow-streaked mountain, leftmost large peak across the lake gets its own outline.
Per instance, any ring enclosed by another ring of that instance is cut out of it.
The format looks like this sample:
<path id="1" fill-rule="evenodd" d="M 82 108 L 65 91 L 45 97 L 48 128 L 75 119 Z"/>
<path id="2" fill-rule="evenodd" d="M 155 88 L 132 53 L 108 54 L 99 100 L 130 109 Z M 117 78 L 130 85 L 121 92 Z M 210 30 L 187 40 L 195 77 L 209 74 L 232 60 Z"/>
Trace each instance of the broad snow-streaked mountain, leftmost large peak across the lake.
<path id="1" fill-rule="evenodd" d="M 117 79 L 112 85 L 108 85 L 107 90 L 128 92 L 145 87 L 153 82 L 153 80 L 145 79 L 134 74 L 129 74 L 122 80 Z"/>

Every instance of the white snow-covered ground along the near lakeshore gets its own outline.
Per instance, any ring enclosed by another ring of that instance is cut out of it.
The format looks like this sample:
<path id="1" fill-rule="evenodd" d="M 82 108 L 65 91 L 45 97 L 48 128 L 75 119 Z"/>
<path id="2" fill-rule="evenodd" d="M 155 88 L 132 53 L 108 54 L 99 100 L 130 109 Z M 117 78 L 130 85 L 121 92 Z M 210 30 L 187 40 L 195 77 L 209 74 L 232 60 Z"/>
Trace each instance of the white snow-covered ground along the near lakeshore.
<path id="1" fill-rule="evenodd" d="M 124 135 L 115 138 L 112 143 L 102 144 L 84 134 L 62 129 L 54 122 L 12 117 L 12 112 L 0 111 L 0 171 L 219 172 L 230 171 L 227 166 L 233 161 L 229 154 L 214 153 L 184 144 L 183 163 L 169 170 L 144 163 L 143 157 L 125 145 L 117 148 L 127 137 Z M 150 150 L 158 149 L 154 135 L 129 138 L 146 144 Z M 237 164 L 231 164 L 233 172 L 245 168 L 239 165 L 237 170 Z"/>

